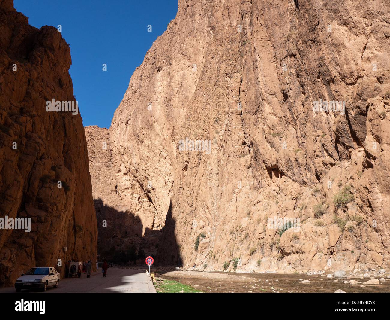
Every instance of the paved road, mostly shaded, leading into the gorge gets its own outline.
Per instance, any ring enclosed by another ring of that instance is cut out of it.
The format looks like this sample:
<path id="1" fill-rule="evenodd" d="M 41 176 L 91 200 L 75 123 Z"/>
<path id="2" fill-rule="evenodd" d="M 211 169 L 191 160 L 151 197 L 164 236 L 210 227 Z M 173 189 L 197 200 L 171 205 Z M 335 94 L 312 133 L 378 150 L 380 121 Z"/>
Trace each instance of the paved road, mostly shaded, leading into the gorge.
<path id="1" fill-rule="evenodd" d="M 101 271 L 101 269 L 99 269 Z M 0 288 L 0 293 L 12 293 L 15 288 Z M 22 293 L 40 292 L 38 290 L 22 290 Z M 93 272 L 87 279 L 86 274 L 81 278 L 62 279 L 58 288 L 48 288 L 42 293 L 156 293 L 152 280 L 142 270 L 109 268 L 103 278 L 101 272 Z"/>

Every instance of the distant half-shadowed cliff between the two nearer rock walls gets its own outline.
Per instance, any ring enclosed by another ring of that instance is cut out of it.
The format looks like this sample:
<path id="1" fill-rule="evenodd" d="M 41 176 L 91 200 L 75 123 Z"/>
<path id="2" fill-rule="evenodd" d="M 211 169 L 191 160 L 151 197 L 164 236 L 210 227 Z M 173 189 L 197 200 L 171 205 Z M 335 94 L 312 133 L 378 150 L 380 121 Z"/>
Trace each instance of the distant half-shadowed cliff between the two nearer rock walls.
<path id="1" fill-rule="evenodd" d="M 85 127 L 89 170 L 98 227 L 101 259 L 122 262 L 121 255 L 134 247 L 155 254 L 161 233 L 156 209 L 134 177 L 118 161 L 110 132 L 97 126 Z"/>

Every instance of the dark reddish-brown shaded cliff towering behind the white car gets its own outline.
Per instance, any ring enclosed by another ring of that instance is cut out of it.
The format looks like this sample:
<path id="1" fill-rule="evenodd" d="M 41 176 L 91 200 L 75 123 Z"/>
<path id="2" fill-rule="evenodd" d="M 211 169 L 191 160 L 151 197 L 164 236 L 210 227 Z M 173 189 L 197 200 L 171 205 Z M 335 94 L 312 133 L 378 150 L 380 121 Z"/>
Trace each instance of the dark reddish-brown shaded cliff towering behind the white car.
<path id="1" fill-rule="evenodd" d="M 31 219 L 30 232 L 0 229 L 0 284 L 12 285 L 34 266 L 64 276 L 68 259 L 96 261 L 97 225 L 82 118 L 46 112 L 75 100 L 69 46 L 12 1 L 0 1 L 0 30 L 0 218 Z"/>

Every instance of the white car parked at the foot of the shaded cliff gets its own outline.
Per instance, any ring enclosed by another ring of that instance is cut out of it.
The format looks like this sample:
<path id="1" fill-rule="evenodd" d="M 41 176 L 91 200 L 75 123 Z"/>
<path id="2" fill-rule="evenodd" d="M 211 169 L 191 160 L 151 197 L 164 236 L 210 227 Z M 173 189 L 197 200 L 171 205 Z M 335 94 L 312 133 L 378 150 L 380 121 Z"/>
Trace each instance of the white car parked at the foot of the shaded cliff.
<path id="1" fill-rule="evenodd" d="M 58 287 L 60 274 L 52 267 L 31 268 L 21 277 L 16 279 L 15 289 L 20 292 L 22 289 L 41 288 L 46 291 L 47 287 Z"/>

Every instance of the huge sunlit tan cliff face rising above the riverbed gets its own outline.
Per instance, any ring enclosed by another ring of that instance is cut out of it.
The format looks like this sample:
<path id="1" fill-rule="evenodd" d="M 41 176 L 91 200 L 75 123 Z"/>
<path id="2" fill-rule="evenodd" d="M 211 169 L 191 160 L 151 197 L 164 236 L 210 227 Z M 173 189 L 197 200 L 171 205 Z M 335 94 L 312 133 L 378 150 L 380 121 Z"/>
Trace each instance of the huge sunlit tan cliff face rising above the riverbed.
<path id="1" fill-rule="evenodd" d="M 388 9 L 179 1 L 109 130 L 163 225 L 156 263 L 390 267 Z"/>

